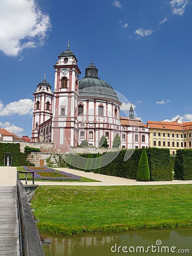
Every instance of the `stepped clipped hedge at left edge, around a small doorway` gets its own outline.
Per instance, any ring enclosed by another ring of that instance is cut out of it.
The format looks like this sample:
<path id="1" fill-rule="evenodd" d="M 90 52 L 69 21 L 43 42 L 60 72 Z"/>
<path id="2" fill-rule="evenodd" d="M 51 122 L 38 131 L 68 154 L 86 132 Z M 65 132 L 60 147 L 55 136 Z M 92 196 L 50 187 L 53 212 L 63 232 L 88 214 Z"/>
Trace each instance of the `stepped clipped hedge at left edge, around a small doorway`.
<path id="1" fill-rule="evenodd" d="M 27 155 L 20 152 L 19 143 L 0 143 L 0 166 L 5 166 L 5 153 L 11 153 L 11 166 L 27 166 Z"/>

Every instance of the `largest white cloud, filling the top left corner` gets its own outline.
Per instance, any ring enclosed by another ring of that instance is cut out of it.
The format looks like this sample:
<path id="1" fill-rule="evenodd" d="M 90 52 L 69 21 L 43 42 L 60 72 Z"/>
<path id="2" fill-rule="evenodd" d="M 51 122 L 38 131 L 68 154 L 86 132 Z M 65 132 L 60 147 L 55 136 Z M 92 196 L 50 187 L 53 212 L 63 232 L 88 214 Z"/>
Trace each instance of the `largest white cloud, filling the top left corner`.
<path id="1" fill-rule="evenodd" d="M 49 16 L 35 0 L 1 0 L 0 24 L 0 50 L 7 56 L 43 45 L 51 28 Z"/>

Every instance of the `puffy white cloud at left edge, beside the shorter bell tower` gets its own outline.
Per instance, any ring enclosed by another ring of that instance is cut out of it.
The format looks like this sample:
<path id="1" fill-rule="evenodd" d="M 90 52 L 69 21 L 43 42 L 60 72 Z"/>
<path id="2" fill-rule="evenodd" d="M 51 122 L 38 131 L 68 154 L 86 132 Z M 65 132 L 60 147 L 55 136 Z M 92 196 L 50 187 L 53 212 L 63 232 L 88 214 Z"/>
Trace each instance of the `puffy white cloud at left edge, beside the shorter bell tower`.
<path id="1" fill-rule="evenodd" d="M 29 98 L 24 98 L 19 101 L 10 102 L 6 106 L 0 101 L 0 116 L 6 115 L 27 115 L 32 114 L 34 102 Z"/>

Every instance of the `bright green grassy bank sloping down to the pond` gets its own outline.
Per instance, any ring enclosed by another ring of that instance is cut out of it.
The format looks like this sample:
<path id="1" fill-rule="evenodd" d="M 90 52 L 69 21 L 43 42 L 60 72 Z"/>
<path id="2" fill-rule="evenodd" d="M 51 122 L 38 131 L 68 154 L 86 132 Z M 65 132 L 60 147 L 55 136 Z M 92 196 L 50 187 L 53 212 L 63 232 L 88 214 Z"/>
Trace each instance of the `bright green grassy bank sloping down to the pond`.
<path id="1" fill-rule="evenodd" d="M 192 226 L 192 186 L 42 186 L 32 208 L 41 232 L 82 234 Z"/>

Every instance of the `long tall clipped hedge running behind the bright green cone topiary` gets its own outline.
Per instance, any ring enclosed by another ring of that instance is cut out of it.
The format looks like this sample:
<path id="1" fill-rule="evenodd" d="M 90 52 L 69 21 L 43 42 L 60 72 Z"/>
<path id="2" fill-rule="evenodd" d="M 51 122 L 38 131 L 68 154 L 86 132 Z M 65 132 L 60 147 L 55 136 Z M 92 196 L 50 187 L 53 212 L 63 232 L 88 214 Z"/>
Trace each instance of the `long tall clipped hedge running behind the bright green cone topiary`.
<path id="1" fill-rule="evenodd" d="M 166 148 L 146 148 L 148 156 L 148 164 L 150 170 L 150 180 L 151 181 L 164 181 L 172 180 L 172 167 L 170 163 L 170 152 Z M 115 152 L 105 152 L 105 158 L 101 158 L 101 168 L 94 169 L 94 172 L 99 172 L 100 174 L 126 177 L 127 179 L 137 178 L 137 170 L 139 166 L 139 160 L 141 152 L 143 149 L 136 148 L 135 150 L 121 150 Z M 87 158 L 90 155 L 94 158 L 92 163 L 95 166 L 95 159 L 97 154 L 71 154 L 68 156 L 70 158 L 70 168 L 75 168 L 77 170 L 84 170 Z M 127 155 L 130 155 L 128 160 L 124 160 Z M 78 156 L 82 156 L 79 158 Z M 111 161 L 111 159 L 114 159 Z M 98 160 L 98 159 L 97 159 Z M 108 164 L 105 166 L 105 164 Z"/>

